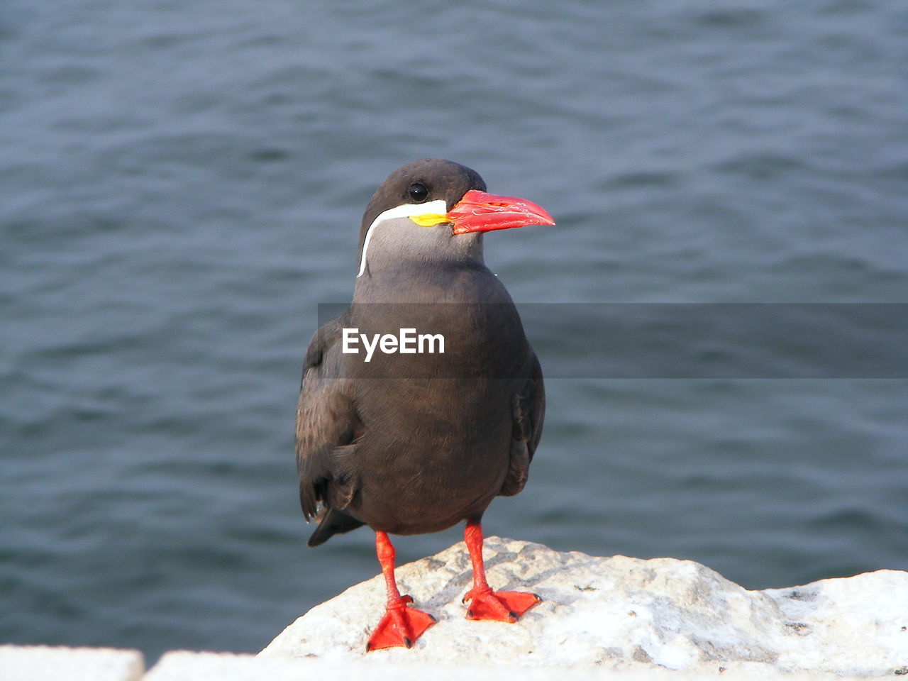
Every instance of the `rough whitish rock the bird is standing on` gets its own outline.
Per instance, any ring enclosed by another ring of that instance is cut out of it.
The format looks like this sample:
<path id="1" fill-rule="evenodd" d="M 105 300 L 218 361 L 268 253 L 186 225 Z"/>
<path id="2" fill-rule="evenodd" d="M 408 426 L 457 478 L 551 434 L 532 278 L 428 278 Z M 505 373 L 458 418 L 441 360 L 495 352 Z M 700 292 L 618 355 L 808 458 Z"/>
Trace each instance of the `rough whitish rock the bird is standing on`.
<path id="1" fill-rule="evenodd" d="M 486 540 L 489 583 L 544 601 L 517 624 L 472 622 L 463 544 L 398 568 L 401 592 L 439 622 L 411 649 L 371 662 L 600 666 L 688 672 L 908 674 L 908 572 L 879 570 L 804 587 L 748 591 L 688 560 L 596 558 Z M 361 659 L 384 607 L 381 577 L 313 607 L 260 656 Z"/>

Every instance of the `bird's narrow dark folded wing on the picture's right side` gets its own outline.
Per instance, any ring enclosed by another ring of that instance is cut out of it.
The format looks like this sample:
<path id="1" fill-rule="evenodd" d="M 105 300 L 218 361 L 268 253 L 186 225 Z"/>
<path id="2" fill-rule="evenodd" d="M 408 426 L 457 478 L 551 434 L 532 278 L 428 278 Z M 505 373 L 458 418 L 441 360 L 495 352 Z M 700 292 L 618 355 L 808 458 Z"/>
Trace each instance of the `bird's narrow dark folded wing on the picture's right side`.
<path id="1" fill-rule="evenodd" d="M 542 368 L 533 353 L 532 369 L 523 390 L 514 396 L 514 428 L 511 435 L 510 465 L 508 475 L 499 494 L 511 497 L 527 484 L 529 462 L 542 437 L 542 422 L 546 415 L 546 388 L 542 381 Z"/>

